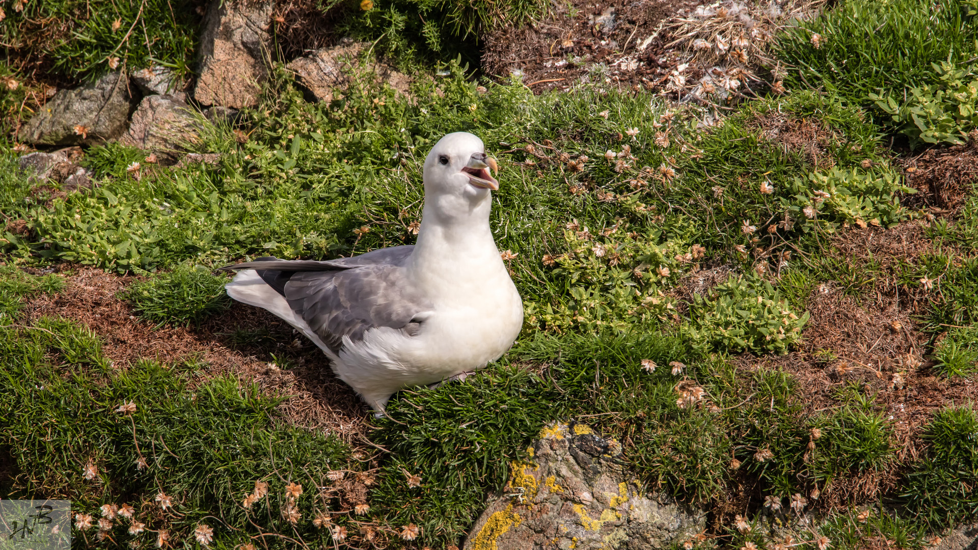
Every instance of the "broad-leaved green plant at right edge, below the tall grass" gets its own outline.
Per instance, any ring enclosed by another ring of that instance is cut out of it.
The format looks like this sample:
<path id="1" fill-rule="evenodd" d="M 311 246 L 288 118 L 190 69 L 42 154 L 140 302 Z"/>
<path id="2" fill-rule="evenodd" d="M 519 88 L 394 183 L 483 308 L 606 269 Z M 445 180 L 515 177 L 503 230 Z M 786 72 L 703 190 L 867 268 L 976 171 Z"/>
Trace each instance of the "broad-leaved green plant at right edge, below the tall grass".
<path id="1" fill-rule="evenodd" d="M 976 66 L 956 68 L 943 61 L 931 66 L 938 83 L 912 87 L 906 101 L 899 102 L 892 94 L 869 94 L 869 99 L 892 116 L 893 125 L 911 138 L 911 146 L 965 143 L 968 132 L 978 124 Z"/>

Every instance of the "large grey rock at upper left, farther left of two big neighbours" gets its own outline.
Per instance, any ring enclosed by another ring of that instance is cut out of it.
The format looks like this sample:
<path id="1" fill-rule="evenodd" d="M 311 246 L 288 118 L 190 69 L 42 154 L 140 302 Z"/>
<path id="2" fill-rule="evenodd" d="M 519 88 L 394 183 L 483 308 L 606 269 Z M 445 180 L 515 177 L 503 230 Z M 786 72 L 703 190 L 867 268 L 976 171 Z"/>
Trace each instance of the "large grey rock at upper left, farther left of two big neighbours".
<path id="1" fill-rule="evenodd" d="M 131 107 L 128 78 L 111 72 L 94 84 L 60 90 L 23 125 L 18 139 L 35 145 L 105 142 L 125 131 Z"/>

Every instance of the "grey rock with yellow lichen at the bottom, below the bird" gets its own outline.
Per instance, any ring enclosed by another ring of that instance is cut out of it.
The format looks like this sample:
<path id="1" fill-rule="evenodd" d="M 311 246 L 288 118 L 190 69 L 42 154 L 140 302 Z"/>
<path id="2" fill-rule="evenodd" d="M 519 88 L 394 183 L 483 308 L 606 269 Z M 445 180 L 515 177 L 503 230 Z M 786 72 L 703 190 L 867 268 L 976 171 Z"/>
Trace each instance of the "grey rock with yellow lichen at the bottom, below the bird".
<path id="1" fill-rule="evenodd" d="M 552 425 L 527 450 L 465 550 L 658 550 L 706 526 L 703 512 L 647 493 L 617 460 L 621 444 L 588 426 Z"/>

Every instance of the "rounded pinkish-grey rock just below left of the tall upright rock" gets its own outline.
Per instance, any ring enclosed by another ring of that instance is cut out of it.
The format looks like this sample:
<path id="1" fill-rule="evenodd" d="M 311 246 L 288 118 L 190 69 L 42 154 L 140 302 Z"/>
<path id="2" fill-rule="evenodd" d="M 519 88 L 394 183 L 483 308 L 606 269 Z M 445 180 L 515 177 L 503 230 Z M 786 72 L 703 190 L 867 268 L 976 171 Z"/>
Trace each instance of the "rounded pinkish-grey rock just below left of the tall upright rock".
<path id="1" fill-rule="evenodd" d="M 143 98 L 119 143 L 176 160 L 176 152 L 199 141 L 200 121 L 194 111 L 173 96 L 162 95 Z"/>

